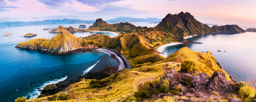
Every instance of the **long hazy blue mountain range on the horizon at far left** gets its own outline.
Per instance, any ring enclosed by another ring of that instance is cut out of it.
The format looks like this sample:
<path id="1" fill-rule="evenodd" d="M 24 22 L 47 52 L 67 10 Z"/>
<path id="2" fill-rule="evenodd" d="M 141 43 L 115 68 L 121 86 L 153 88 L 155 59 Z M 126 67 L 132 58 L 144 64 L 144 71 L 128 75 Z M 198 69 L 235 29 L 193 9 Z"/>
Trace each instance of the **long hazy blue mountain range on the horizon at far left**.
<path id="1" fill-rule="evenodd" d="M 80 24 L 80 23 L 94 23 L 95 20 L 77 20 L 77 19 L 63 19 L 63 20 L 43 20 L 43 21 L 29 21 L 29 22 L 0 22 L 0 28 L 9 27 L 26 27 L 33 25 L 52 25 L 52 24 Z"/>

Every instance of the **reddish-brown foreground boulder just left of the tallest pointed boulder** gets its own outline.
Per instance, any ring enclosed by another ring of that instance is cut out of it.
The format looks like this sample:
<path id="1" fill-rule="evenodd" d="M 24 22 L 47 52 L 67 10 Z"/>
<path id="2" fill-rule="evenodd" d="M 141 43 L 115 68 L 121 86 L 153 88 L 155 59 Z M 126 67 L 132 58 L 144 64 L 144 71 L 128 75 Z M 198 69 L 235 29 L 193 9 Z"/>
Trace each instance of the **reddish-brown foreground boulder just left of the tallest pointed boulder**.
<path id="1" fill-rule="evenodd" d="M 196 90 L 205 90 L 210 79 L 205 73 L 194 75 L 191 78 L 192 87 Z"/>

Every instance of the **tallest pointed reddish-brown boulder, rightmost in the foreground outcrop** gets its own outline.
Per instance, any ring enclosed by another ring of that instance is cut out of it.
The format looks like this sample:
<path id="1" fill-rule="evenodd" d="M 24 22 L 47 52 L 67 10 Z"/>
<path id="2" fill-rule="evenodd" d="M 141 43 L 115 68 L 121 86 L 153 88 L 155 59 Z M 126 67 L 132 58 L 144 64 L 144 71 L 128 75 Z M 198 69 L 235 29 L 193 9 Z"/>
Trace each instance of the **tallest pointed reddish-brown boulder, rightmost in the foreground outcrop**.
<path id="1" fill-rule="evenodd" d="M 227 80 L 225 73 L 215 71 L 207 85 L 207 90 L 209 92 L 215 91 L 220 94 L 228 94 L 234 91 L 232 88 L 233 83 L 233 81 Z"/>

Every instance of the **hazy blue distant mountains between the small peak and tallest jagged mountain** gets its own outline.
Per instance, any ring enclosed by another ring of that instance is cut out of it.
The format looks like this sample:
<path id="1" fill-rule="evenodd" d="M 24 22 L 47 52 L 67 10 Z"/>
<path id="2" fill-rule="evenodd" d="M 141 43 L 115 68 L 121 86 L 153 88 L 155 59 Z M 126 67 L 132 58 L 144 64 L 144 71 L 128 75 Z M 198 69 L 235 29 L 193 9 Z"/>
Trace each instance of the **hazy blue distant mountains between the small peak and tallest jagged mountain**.
<path id="1" fill-rule="evenodd" d="M 119 17 L 111 20 L 106 20 L 107 23 L 120 23 L 120 22 L 161 22 L 159 18 L 132 18 L 132 17 Z"/>

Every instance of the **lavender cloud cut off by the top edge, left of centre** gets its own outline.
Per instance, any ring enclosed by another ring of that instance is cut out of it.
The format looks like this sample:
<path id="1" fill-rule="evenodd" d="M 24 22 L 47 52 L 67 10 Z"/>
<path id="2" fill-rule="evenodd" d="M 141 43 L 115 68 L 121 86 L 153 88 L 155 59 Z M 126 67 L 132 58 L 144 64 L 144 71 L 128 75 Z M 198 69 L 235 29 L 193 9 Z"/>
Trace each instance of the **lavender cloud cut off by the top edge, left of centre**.
<path id="1" fill-rule="evenodd" d="M 76 1 L 81 2 L 88 6 L 102 6 L 103 4 L 108 4 L 108 3 L 123 1 L 123 0 L 76 0 Z"/>

